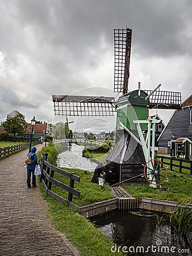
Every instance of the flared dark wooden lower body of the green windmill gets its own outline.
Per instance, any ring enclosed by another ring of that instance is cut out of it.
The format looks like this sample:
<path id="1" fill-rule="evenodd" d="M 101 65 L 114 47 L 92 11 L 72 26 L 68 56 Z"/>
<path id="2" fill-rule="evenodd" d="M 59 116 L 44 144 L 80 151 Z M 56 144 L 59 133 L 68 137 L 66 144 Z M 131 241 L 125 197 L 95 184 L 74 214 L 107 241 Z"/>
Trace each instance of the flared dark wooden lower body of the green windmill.
<path id="1" fill-rule="evenodd" d="M 135 135 L 138 136 L 137 131 Z M 110 184 L 147 182 L 143 175 L 142 164 L 145 164 L 145 158 L 142 147 L 125 130 L 108 154 L 106 162 L 112 171 L 107 178 Z"/>

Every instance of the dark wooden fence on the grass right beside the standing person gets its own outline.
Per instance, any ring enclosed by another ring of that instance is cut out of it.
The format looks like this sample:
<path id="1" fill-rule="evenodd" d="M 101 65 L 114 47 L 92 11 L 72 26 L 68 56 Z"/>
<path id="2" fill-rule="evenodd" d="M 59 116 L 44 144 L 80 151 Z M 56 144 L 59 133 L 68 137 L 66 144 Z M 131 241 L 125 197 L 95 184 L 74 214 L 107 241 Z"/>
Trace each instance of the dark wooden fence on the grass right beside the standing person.
<path id="1" fill-rule="evenodd" d="M 47 195 L 52 196 L 56 200 L 62 202 L 62 203 L 70 203 L 72 205 L 72 198 L 73 195 L 80 197 L 80 192 L 74 189 L 74 181 L 80 182 L 80 177 L 72 174 L 70 172 L 64 171 L 61 168 L 58 168 L 56 166 L 53 166 L 52 164 L 47 162 L 47 156 L 48 154 L 41 154 L 41 177 L 40 181 L 43 183 L 43 187 L 45 189 L 45 192 Z M 54 173 L 57 172 L 61 175 L 64 175 L 66 177 L 69 177 L 70 184 L 69 186 L 54 179 Z M 68 199 L 65 199 L 64 197 L 57 195 L 55 192 L 51 190 L 52 184 L 55 184 L 57 187 L 60 187 L 64 189 L 65 191 L 68 191 Z M 74 205 L 76 207 L 76 205 Z"/>

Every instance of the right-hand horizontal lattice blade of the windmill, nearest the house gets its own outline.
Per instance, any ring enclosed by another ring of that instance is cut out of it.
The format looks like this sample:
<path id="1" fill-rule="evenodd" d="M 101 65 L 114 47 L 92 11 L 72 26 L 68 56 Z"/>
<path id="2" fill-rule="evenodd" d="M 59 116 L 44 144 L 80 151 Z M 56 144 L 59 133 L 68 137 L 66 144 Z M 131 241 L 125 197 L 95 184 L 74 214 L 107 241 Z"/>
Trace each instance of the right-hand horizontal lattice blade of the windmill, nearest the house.
<path id="1" fill-rule="evenodd" d="M 152 90 L 144 90 L 150 94 Z M 169 92 L 166 90 L 156 90 L 149 97 L 150 109 L 180 109 L 181 108 L 181 92 Z"/>

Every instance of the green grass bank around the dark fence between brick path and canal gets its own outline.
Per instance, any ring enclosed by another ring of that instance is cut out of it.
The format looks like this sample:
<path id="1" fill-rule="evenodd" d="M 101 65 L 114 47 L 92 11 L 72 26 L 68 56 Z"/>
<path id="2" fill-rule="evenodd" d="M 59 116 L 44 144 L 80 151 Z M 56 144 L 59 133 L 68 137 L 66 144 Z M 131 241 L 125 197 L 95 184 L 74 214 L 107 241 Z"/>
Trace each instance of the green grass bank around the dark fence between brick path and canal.
<path id="1" fill-rule="evenodd" d="M 38 157 L 40 159 L 41 152 L 48 152 L 48 160 L 53 160 L 51 155 L 57 155 L 55 147 L 51 144 L 49 147 L 44 147 L 38 152 Z M 77 169 L 65 169 L 69 172 L 74 172 L 76 175 L 80 176 L 81 182 L 75 182 L 74 187 L 78 189 L 81 193 L 80 199 L 78 197 L 73 197 L 73 203 L 78 205 L 87 205 L 95 201 L 102 201 L 111 198 L 110 189 L 105 185 L 104 189 L 98 184 L 93 184 L 90 182 L 93 176 L 90 172 Z M 69 180 L 62 175 L 54 174 L 54 177 L 66 184 Z M 47 200 L 49 205 L 49 217 L 51 218 L 53 224 L 56 226 L 61 233 L 64 233 L 66 238 L 84 256 L 112 256 L 112 255 L 123 255 L 122 253 L 112 253 L 111 246 L 113 243 L 110 242 L 93 224 L 91 224 L 85 217 L 80 216 L 75 212 L 74 209 L 69 208 L 66 204 L 60 203 L 59 201 L 48 196 L 43 189 L 43 186 L 39 183 L 43 197 Z M 52 190 L 59 193 L 60 195 L 66 197 L 66 193 L 61 189 L 54 187 L 52 185 Z"/>

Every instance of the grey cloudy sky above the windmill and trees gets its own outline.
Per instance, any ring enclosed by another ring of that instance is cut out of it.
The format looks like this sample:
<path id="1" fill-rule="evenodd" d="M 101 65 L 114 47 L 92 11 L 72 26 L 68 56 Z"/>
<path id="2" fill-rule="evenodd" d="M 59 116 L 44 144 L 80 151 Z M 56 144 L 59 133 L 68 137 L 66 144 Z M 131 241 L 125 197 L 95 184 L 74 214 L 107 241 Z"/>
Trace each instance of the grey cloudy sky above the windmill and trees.
<path id="1" fill-rule="evenodd" d="M 191 13 L 190 0 L 0 0 L 0 122 L 12 110 L 54 122 L 52 94 L 115 96 L 114 28 L 132 28 L 129 89 L 161 83 L 185 100 Z"/>

